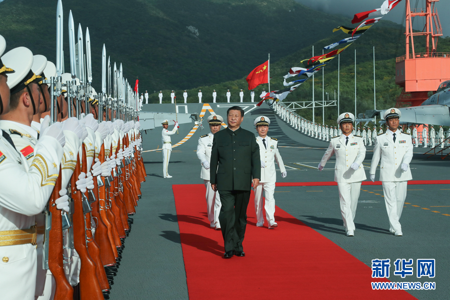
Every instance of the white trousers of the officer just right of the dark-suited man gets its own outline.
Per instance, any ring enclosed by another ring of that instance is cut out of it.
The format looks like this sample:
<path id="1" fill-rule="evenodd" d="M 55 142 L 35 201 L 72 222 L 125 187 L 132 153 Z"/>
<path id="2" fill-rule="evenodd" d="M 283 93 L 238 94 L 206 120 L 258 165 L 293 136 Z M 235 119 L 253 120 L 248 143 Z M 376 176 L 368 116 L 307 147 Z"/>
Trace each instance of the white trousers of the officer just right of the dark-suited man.
<path id="1" fill-rule="evenodd" d="M 273 192 L 275 191 L 275 182 L 259 182 L 258 186 L 254 190 L 254 211 L 256 213 L 256 221 L 263 223 L 262 216 L 262 190 L 264 190 L 265 203 L 265 218 L 267 224 L 270 225 L 270 221 L 275 221 L 275 198 L 273 198 Z"/>

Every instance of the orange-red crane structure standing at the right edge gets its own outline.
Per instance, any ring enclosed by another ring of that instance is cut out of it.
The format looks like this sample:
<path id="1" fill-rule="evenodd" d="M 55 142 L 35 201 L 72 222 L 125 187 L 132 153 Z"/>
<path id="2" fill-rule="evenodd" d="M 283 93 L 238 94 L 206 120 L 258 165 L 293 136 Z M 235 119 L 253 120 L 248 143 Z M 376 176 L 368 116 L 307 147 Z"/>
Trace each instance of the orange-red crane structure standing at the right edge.
<path id="1" fill-rule="evenodd" d="M 450 79 L 450 53 L 437 52 L 437 37 L 442 35 L 434 3 L 439 0 L 425 0 L 426 8 L 411 9 L 406 0 L 406 54 L 396 58 L 395 84 L 403 87 L 397 98 L 396 107 L 417 106 L 428 98 L 428 91 L 435 91 L 445 80 Z M 422 32 L 412 31 L 412 18 L 425 17 Z M 434 26 L 433 26 L 434 25 Z M 425 35 L 425 52 L 414 50 L 414 36 Z"/>

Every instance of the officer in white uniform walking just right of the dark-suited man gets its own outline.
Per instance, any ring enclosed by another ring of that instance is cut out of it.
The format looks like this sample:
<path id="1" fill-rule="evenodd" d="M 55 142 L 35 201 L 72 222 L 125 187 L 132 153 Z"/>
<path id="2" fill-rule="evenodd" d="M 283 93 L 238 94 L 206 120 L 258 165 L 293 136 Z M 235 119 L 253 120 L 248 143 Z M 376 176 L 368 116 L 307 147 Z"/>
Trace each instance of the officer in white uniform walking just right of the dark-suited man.
<path id="1" fill-rule="evenodd" d="M 273 229 L 278 226 L 274 217 L 275 199 L 273 198 L 276 181 L 275 161 L 278 163 L 281 177 L 286 177 L 287 173 L 281 155 L 278 152 L 278 140 L 267 136 L 269 124 L 270 120 L 266 116 L 258 116 L 254 120 L 254 125 L 259 135 L 256 137 L 256 142 L 259 145 L 259 156 L 261 158 L 261 179 L 256 189 L 254 189 L 254 210 L 256 212 L 256 226 L 262 227 L 264 223 L 262 190 L 264 190 L 265 218 L 267 219 L 268 228 Z"/>

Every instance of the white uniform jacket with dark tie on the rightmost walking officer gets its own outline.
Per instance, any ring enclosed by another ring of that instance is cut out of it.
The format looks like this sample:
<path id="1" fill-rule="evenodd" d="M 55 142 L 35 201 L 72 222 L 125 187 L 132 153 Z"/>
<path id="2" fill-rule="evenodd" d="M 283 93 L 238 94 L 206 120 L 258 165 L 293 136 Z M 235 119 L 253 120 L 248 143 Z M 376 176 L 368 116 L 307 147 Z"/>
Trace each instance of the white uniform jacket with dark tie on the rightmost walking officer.
<path id="1" fill-rule="evenodd" d="M 411 180 L 411 170 L 401 169 L 401 164 L 409 165 L 412 159 L 412 141 L 411 136 L 402 133 L 400 130 L 395 131 L 395 142 L 392 135 L 387 132 L 376 136 L 373 148 L 373 157 L 370 164 L 370 174 L 374 174 L 378 161 L 379 164 L 379 180 L 380 181 L 406 181 Z"/>

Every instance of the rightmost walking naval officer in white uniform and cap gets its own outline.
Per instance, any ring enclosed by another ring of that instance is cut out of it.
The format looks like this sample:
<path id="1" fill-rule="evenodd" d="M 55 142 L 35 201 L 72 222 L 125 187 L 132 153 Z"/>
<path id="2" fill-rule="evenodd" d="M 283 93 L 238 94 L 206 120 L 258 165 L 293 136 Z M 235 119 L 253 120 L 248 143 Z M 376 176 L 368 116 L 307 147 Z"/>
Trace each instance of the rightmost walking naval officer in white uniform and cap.
<path id="1" fill-rule="evenodd" d="M 412 159 L 412 140 L 407 133 L 398 130 L 401 112 L 397 108 L 389 108 L 384 111 L 387 130 L 378 134 L 373 148 L 373 157 L 370 163 L 370 180 L 375 181 L 375 170 L 378 161 L 379 180 L 383 184 L 384 202 L 390 228 L 396 236 L 401 236 L 399 222 L 406 198 L 407 180 L 412 179 L 409 163 Z"/>

